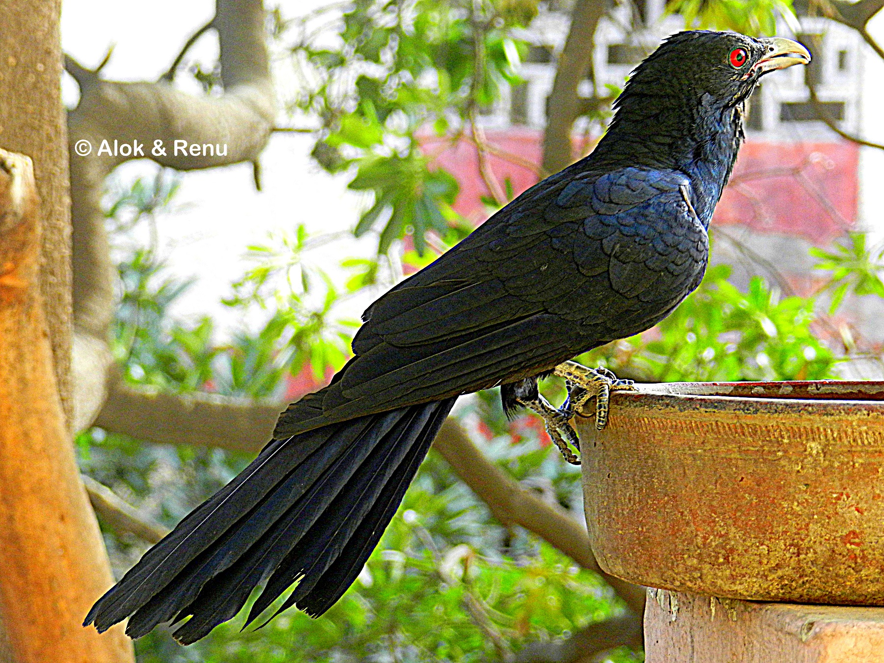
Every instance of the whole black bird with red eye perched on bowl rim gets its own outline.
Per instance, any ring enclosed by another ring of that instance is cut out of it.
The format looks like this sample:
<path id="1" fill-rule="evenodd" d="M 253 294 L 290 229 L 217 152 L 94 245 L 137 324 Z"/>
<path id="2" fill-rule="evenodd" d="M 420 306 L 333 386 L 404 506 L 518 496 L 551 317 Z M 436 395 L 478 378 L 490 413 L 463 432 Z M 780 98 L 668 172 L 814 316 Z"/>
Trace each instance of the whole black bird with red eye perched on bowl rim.
<path id="1" fill-rule="evenodd" d="M 283 607 L 328 610 L 399 507 L 454 400 L 501 385 L 507 411 L 544 416 L 571 461 L 568 419 L 629 388 L 570 357 L 650 328 L 700 282 L 706 228 L 743 141 L 743 107 L 767 72 L 807 64 L 786 39 L 682 32 L 636 68 L 598 147 L 531 187 L 375 301 L 354 357 L 279 417 L 247 469 L 181 521 L 95 603 L 99 631 L 164 621 L 193 643 L 245 605 L 298 582 Z M 563 363 L 565 362 L 565 363 Z M 552 408 L 537 378 L 568 379 Z"/>

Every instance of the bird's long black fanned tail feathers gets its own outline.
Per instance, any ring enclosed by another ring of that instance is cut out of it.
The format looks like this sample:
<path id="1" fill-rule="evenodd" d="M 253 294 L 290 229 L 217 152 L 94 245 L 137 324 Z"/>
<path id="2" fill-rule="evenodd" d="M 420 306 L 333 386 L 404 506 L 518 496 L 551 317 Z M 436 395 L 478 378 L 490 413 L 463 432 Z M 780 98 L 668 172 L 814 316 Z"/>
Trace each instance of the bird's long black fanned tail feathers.
<path id="1" fill-rule="evenodd" d="M 255 619 L 299 578 L 283 608 L 324 613 L 362 571 L 454 404 L 453 398 L 273 440 L 145 553 L 89 611 L 141 637 L 164 621 L 190 644 L 231 619 L 266 581 Z"/>

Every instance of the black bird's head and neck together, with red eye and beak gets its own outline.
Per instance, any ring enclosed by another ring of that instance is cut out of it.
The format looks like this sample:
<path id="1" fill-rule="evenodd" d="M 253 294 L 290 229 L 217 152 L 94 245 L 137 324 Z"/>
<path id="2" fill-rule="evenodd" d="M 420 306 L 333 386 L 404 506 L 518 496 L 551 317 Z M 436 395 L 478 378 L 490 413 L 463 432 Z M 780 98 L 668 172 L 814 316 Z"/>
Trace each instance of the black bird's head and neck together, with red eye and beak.
<path id="1" fill-rule="evenodd" d="M 691 30 L 669 37 L 636 67 L 614 103 L 595 167 L 645 164 L 684 171 L 721 164 L 723 187 L 743 140 L 743 104 L 767 73 L 811 54 L 781 37 Z"/>

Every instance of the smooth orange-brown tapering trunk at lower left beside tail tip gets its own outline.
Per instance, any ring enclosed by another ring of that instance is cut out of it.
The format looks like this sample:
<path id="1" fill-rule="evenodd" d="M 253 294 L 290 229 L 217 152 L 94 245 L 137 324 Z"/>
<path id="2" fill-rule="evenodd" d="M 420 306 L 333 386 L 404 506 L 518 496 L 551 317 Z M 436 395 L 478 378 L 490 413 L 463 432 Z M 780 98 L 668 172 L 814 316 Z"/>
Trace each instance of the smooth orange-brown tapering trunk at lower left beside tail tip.
<path id="1" fill-rule="evenodd" d="M 0 150 L 0 619 L 7 659 L 133 660 L 80 622 L 113 582 L 58 397 L 31 162 Z"/>

